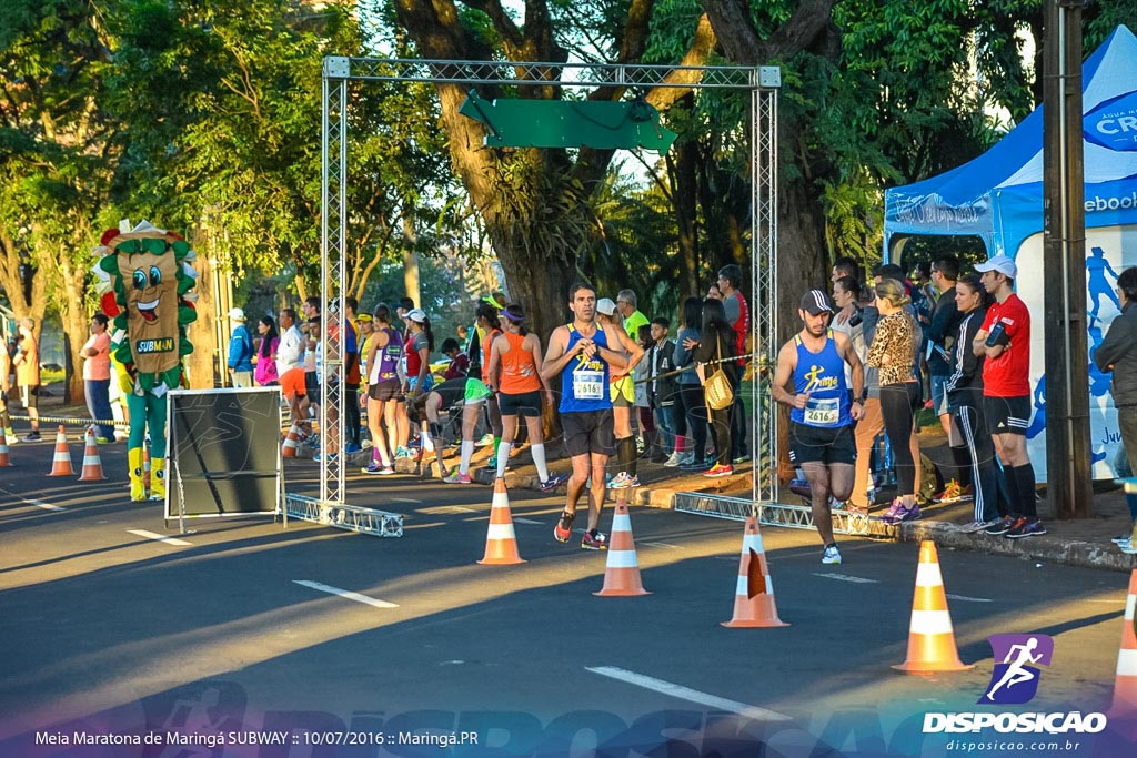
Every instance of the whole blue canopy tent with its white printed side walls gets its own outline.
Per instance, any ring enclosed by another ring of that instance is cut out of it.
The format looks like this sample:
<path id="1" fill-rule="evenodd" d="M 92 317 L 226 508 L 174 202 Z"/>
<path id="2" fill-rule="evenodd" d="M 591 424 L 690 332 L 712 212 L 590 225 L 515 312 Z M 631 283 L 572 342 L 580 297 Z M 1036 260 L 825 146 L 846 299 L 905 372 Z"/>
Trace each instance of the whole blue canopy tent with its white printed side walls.
<path id="1" fill-rule="evenodd" d="M 1101 342 L 1118 313 L 1109 277 L 1137 265 L 1137 38 L 1119 26 L 1082 65 L 1086 182 L 1086 249 L 1089 345 Z M 1043 438 L 1043 109 L 1037 108 L 997 144 L 958 168 L 885 192 L 885 250 L 899 258 L 912 235 L 965 235 L 984 241 L 987 255 L 1019 265 L 1016 290 L 1034 319 L 1031 375 L 1036 414 L 1031 461 L 1044 476 Z M 1119 443 L 1109 377 L 1090 365 L 1096 476 L 1111 476 Z"/>

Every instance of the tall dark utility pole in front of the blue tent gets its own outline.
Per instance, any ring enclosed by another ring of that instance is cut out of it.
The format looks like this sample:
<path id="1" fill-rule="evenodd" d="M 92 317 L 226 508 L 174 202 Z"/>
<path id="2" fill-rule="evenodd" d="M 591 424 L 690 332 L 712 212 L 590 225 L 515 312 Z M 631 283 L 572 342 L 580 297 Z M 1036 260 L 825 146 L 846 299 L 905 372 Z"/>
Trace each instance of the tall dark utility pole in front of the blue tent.
<path id="1" fill-rule="evenodd" d="M 1046 0 L 1043 198 L 1046 318 L 1044 515 L 1093 513 L 1089 353 L 1086 345 L 1086 213 L 1081 108 L 1085 0 Z"/>

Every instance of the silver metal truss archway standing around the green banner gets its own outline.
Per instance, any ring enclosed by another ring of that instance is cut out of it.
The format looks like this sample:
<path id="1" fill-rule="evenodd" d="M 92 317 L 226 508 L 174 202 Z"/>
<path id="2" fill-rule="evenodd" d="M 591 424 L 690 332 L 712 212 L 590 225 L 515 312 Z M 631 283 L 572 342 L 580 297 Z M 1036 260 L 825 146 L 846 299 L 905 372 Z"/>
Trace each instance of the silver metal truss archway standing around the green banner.
<path id="1" fill-rule="evenodd" d="M 407 58 L 350 58 L 330 56 L 323 67 L 323 117 L 321 127 L 321 283 L 323 303 L 340 303 L 325 318 L 335 319 L 346 334 L 342 308 L 347 281 L 347 175 L 350 82 L 424 82 L 432 84 L 542 85 L 562 88 L 675 88 L 725 89 L 750 92 L 750 339 L 755 358 L 752 372 L 750 468 L 755 503 L 778 499 L 778 414 L 762 399 L 762 370 L 773 366 L 778 344 L 778 92 L 781 69 L 777 66 L 644 66 L 623 64 L 562 64 L 532 61 L 431 60 Z M 343 505 L 342 392 L 329 397 L 329 384 L 342 386 L 343 350 L 327 338 L 326 324 L 319 342 L 324 378 L 321 386 L 319 434 L 335 441 L 341 453 L 333 460 L 321 456 L 319 501 Z M 338 395 L 338 397 L 337 397 Z M 338 414 L 330 416 L 329 401 Z M 326 442 L 323 445 L 327 449 Z M 763 465 L 769 467 L 763 476 Z"/>

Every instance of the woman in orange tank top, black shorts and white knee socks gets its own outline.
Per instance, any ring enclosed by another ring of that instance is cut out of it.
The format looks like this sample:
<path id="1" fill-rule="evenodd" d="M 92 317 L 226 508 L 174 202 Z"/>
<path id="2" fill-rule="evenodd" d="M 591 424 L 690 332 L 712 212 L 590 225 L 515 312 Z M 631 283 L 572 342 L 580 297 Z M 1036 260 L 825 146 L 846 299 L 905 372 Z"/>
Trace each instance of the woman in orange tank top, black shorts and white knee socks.
<path id="1" fill-rule="evenodd" d="M 551 492 L 568 477 L 549 476 L 545 463 L 545 438 L 541 433 L 541 395 L 553 405 L 553 390 L 541 376 L 541 341 L 525 328 L 525 314 L 521 306 L 512 305 L 501 311 L 505 330 L 490 342 L 487 373 L 490 390 L 497 395 L 501 409 L 501 444 L 497 451 L 497 476 L 505 476 L 509 451 L 517 434 L 517 416 L 525 418 L 529 428 L 529 451 L 541 480 L 541 490 Z"/>

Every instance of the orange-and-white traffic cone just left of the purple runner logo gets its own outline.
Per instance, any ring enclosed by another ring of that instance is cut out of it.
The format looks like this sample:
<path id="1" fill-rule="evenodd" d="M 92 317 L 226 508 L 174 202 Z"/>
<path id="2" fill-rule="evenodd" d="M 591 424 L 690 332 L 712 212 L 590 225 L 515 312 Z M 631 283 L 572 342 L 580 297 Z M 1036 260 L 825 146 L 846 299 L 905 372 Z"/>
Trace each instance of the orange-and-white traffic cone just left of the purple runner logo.
<path id="1" fill-rule="evenodd" d="M 907 674 L 965 672 L 974 668 L 960 660 L 952 614 L 947 610 L 944 577 L 939 573 L 939 556 L 936 543 L 931 540 L 920 543 L 916 591 L 912 598 L 912 622 L 908 625 L 908 657 L 893 668 Z"/>

